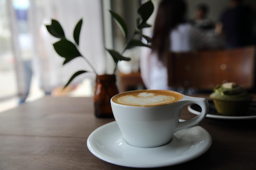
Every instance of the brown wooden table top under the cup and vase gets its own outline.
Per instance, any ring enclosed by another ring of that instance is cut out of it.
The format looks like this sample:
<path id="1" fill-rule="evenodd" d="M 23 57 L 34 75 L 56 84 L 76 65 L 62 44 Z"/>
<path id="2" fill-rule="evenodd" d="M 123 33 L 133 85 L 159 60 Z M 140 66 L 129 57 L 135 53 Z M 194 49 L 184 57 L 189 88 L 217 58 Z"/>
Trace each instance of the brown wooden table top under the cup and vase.
<path id="1" fill-rule="evenodd" d="M 90 153 L 90 133 L 114 119 L 93 115 L 92 98 L 43 97 L 0 113 L 0 170 L 129 170 Z M 182 119 L 195 115 L 186 108 Z M 159 169 L 255 170 L 256 121 L 200 122 L 213 139 L 202 156 Z"/>

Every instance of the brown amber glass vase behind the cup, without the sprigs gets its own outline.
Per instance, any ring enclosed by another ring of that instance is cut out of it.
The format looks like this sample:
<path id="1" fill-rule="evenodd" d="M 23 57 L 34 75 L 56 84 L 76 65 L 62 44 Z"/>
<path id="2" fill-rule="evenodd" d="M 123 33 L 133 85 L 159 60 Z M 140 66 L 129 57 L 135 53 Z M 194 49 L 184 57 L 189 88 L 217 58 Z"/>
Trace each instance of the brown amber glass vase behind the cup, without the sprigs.
<path id="1" fill-rule="evenodd" d="M 113 117 L 110 99 L 118 93 L 115 75 L 97 75 L 94 88 L 94 114 L 96 117 Z"/>

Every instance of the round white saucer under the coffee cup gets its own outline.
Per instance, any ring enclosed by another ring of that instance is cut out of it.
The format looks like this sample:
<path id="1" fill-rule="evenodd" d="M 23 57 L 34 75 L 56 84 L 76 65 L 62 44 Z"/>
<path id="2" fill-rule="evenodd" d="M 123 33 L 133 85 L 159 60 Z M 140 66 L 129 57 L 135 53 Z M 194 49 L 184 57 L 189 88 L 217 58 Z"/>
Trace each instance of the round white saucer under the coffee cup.
<path id="1" fill-rule="evenodd" d="M 176 132 L 169 144 L 137 148 L 124 140 L 115 121 L 94 130 L 87 140 L 93 155 L 103 161 L 134 168 L 171 166 L 199 157 L 211 146 L 211 135 L 200 126 Z"/>

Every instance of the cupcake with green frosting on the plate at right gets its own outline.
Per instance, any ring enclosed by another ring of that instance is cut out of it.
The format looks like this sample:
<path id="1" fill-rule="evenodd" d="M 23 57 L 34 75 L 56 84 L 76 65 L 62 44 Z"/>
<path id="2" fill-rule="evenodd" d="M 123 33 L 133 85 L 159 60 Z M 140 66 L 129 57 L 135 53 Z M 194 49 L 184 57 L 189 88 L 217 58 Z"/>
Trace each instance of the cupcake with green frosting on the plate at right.
<path id="1" fill-rule="evenodd" d="M 213 89 L 210 95 L 220 115 L 243 116 L 247 113 L 252 96 L 236 83 L 225 83 Z"/>

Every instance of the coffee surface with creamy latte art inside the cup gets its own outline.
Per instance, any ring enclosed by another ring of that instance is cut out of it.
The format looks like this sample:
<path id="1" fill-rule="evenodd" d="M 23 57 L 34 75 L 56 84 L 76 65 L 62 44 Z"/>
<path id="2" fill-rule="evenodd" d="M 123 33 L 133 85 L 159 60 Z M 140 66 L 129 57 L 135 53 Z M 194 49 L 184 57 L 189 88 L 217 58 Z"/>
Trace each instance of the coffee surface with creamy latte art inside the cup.
<path id="1" fill-rule="evenodd" d="M 169 104 L 180 99 L 182 99 L 180 93 L 162 90 L 128 91 L 112 98 L 113 102 L 117 104 L 142 107 Z"/>

